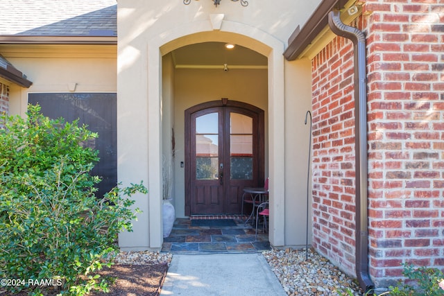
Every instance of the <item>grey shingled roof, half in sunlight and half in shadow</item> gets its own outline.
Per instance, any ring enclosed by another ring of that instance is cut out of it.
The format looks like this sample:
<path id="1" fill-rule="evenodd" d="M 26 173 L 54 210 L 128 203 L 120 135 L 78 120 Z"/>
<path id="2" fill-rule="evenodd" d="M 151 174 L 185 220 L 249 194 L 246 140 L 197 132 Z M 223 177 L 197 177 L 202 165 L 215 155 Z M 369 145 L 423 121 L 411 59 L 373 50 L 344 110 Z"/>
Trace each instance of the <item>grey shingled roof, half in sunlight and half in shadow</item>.
<path id="1" fill-rule="evenodd" d="M 116 0 L 1 0 L 0 35 L 117 36 Z"/>

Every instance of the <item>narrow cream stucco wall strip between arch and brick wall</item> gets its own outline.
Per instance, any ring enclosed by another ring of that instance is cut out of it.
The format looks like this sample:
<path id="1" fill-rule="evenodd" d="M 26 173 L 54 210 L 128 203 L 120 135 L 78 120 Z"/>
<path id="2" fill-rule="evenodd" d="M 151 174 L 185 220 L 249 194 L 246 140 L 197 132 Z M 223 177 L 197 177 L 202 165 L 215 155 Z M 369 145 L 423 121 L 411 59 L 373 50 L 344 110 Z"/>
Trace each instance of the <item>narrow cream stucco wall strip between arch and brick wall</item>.
<path id="1" fill-rule="evenodd" d="M 305 125 L 307 111 L 311 111 L 310 74 L 308 59 L 289 62 L 285 67 L 285 244 L 297 247 L 306 243 L 307 215 L 311 242 L 311 182 L 307 211 L 309 116 Z"/>

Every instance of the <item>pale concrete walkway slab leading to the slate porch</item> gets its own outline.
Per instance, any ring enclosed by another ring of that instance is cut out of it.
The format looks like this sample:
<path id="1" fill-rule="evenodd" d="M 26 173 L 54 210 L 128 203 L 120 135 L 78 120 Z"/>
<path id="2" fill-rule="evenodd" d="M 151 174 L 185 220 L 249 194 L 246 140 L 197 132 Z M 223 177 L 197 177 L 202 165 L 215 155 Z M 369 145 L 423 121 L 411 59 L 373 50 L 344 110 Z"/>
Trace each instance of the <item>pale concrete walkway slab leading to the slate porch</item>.
<path id="1" fill-rule="evenodd" d="M 160 295 L 287 293 L 262 254 L 174 254 Z"/>

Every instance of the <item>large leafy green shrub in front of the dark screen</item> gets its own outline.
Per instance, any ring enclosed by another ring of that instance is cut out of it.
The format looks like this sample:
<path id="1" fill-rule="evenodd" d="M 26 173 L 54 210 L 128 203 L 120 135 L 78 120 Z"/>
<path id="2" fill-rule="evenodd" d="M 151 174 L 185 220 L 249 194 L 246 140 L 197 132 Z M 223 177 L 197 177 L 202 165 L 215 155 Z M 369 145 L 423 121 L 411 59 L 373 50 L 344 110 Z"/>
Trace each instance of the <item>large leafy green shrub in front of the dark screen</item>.
<path id="1" fill-rule="evenodd" d="M 33 105 L 27 119 L 2 116 L 2 121 L 0 279 L 15 285 L 1 288 L 42 295 L 49 287 L 38 283 L 52 281 L 62 295 L 106 290 L 107 282 L 94 271 L 117 251 L 117 234 L 132 229 L 134 201 L 123 195 L 145 193 L 145 187 L 116 187 L 96 198 L 100 179 L 89 171 L 98 152 L 87 145 L 97 135 L 77 121 L 48 119 Z"/>

